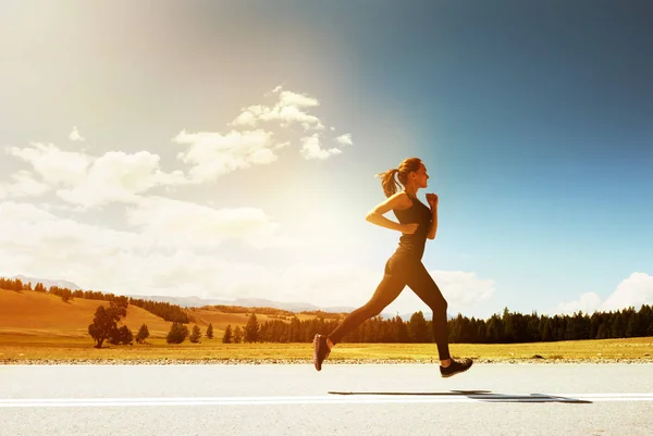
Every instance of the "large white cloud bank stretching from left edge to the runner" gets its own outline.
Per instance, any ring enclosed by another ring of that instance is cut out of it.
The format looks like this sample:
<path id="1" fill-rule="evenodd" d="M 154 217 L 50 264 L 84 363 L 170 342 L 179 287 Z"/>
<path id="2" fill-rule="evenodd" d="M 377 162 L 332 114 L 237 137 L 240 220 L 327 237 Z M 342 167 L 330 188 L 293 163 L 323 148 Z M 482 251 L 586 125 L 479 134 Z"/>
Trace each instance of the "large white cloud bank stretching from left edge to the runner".
<path id="1" fill-rule="evenodd" d="M 206 235 L 209 239 L 221 238 L 223 233 L 247 238 L 261 228 L 263 235 L 270 232 L 269 219 L 260 211 L 213 211 L 162 201 L 131 214 L 138 232 L 82 224 L 33 204 L 0 203 L 0 273 L 65 277 L 86 289 L 116 294 L 258 297 L 326 304 L 362 303 L 379 277 L 378 272 L 366 276 L 352 265 L 272 269 L 224 254 L 200 254 L 193 246 L 199 244 L 201 231 L 212 232 Z M 173 207 L 182 212 L 164 216 Z M 145 221 L 156 219 L 157 213 L 164 215 L 148 227 Z M 241 222 L 244 215 L 250 215 L 248 223 Z M 218 228 L 209 229 L 210 219 L 217 220 Z M 200 231 L 190 231 L 193 225 Z M 159 250 L 150 236 L 164 237 L 167 231 L 180 235 L 173 240 L 177 247 Z M 184 242 L 186 237 L 190 240 Z M 353 291 L 358 292 L 357 300 L 352 299 Z"/>

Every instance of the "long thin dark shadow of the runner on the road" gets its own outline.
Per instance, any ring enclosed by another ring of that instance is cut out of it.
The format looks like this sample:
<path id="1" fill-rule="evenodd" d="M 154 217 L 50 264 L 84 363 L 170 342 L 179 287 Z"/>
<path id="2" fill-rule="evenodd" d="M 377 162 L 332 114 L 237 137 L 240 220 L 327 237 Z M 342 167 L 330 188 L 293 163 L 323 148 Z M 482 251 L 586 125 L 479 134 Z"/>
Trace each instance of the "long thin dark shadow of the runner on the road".
<path id="1" fill-rule="evenodd" d="M 332 395 L 396 395 L 396 396 L 424 396 L 424 397 L 441 397 L 441 396 L 457 396 L 467 397 L 479 401 L 488 402 L 570 402 L 578 404 L 591 404 L 592 401 L 579 400 L 577 398 L 558 397 L 546 394 L 494 394 L 491 390 L 451 390 L 448 393 L 355 393 L 355 391 L 335 391 L 331 390 Z"/>

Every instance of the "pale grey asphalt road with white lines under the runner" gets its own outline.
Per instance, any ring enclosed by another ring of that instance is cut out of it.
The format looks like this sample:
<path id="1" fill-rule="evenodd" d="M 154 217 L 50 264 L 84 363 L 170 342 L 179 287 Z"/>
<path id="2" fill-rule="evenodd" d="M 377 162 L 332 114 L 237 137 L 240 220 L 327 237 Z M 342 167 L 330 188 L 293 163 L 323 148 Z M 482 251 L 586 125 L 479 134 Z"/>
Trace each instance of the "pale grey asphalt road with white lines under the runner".
<path id="1" fill-rule="evenodd" d="M 653 435 L 653 364 L 0 365 L 0 435 Z"/>

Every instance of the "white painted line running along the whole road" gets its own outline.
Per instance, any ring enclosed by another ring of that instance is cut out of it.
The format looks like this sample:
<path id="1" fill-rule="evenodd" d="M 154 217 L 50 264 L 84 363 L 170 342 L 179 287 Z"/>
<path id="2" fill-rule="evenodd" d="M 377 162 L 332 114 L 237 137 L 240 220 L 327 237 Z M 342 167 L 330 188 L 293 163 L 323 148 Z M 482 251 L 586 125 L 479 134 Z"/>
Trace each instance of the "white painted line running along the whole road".
<path id="1" fill-rule="evenodd" d="M 143 406 L 261 406 L 370 404 L 433 402 L 604 402 L 653 401 L 653 394 L 445 394 L 445 395 L 329 395 L 295 397 L 177 397 L 177 398 L 5 398 L 1 408 L 108 408 Z"/>

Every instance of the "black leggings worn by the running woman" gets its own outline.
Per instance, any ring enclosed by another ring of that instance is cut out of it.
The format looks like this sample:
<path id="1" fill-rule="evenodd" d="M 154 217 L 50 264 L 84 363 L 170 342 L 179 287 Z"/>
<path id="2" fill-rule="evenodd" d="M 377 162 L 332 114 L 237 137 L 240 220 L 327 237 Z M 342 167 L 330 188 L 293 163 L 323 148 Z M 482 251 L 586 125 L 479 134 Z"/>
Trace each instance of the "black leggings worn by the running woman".
<path id="1" fill-rule="evenodd" d="M 433 338 L 438 345 L 440 360 L 449 359 L 446 300 L 421 260 L 404 253 L 395 253 L 387 260 L 383 279 L 372 298 L 365 306 L 349 313 L 331 332 L 329 335 L 331 341 L 334 345 L 337 344 L 343 336 L 358 327 L 364 321 L 381 313 L 402 294 L 406 285 L 433 311 Z"/>

